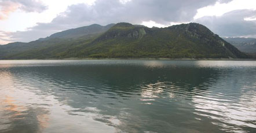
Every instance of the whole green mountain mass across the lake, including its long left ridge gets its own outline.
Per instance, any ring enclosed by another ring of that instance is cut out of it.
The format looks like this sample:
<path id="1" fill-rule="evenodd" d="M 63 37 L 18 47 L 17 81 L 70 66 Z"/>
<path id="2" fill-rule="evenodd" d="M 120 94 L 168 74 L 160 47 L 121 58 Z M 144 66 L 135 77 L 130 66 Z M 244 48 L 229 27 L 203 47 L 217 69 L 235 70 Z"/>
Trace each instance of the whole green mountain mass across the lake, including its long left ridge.
<path id="1" fill-rule="evenodd" d="M 85 31 L 82 30 L 84 27 L 76 28 L 76 31 L 69 29 L 45 39 L 16 44 L 17 50 L 9 48 L 11 44 L 6 45 L 8 48 L 0 46 L 0 53 L 8 51 L 1 54 L 0 58 L 248 58 L 207 27 L 197 23 L 166 28 L 148 28 L 129 23 L 105 27 L 87 30 L 83 35 L 79 31 Z"/>

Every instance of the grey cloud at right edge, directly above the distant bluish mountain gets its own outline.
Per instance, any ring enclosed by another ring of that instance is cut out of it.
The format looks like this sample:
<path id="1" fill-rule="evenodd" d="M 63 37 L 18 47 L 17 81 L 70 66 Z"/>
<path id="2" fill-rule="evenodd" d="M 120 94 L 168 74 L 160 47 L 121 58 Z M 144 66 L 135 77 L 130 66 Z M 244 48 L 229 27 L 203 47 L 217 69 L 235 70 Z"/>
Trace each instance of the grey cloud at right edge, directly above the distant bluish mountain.
<path id="1" fill-rule="evenodd" d="M 256 10 L 233 10 L 222 16 L 205 16 L 195 21 L 220 36 L 256 37 L 255 14 Z"/>

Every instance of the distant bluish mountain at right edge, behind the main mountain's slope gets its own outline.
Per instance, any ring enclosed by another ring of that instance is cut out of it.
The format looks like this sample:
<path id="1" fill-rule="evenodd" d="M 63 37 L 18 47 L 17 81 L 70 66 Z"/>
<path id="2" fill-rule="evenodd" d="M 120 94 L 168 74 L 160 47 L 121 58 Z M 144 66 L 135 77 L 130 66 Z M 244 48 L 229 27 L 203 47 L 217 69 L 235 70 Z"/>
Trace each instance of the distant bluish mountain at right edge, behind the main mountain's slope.
<path id="1" fill-rule="evenodd" d="M 223 38 L 244 53 L 251 54 L 256 58 L 256 38 Z"/>

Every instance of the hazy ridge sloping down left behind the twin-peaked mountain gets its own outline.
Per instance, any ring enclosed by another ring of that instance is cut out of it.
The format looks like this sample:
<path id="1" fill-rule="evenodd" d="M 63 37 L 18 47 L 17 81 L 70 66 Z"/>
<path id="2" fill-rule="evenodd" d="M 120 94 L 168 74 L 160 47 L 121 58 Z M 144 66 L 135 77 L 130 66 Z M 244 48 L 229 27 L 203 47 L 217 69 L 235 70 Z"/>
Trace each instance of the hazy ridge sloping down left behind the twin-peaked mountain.
<path id="1" fill-rule="evenodd" d="M 47 38 L 39 38 L 38 40 L 29 43 L 14 42 L 8 43 L 7 45 L 1 45 L 0 59 L 48 58 L 52 56 L 52 54 L 67 49 L 74 43 L 85 42 L 87 39 L 100 35 L 113 25 L 115 24 L 108 24 L 106 26 L 92 24 L 85 27 L 57 32 Z M 41 53 L 36 54 L 36 51 L 40 51 Z"/>

